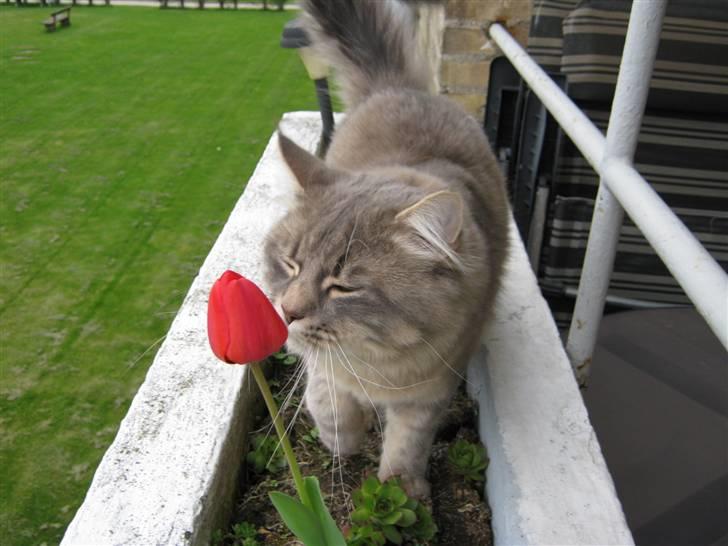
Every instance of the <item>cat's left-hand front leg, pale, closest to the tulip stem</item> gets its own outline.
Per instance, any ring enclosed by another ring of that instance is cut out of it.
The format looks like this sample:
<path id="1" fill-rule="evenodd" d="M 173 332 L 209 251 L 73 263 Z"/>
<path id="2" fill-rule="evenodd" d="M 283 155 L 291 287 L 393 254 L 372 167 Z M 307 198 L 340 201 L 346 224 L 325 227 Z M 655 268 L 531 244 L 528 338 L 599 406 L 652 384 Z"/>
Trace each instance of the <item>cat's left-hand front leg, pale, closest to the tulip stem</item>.
<path id="1" fill-rule="evenodd" d="M 371 419 L 350 392 L 337 386 L 321 370 L 309 371 L 305 400 L 319 429 L 319 438 L 332 453 L 345 456 L 359 451 Z"/>

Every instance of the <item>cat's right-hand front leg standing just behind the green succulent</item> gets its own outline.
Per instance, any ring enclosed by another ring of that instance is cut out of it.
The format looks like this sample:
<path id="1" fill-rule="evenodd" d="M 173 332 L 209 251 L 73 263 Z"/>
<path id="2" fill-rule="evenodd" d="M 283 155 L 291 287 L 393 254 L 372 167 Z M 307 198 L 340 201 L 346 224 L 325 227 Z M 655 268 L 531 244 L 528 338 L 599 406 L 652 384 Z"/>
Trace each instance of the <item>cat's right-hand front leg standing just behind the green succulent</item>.
<path id="1" fill-rule="evenodd" d="M 432 441 L 444 404 L 396 404 L 387 407 L 384 446 L 379 463 L 381 481 L 399 476 L 413 497 L 430 494 L 425 478 Z"/>

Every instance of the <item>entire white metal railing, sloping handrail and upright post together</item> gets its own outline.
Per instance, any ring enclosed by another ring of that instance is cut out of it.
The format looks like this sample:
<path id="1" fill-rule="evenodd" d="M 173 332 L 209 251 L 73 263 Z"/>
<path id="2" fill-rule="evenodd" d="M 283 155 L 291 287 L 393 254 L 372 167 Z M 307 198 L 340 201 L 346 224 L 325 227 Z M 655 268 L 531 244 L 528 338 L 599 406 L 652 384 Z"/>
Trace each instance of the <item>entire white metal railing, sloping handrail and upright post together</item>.
<path id="1" fill-rule="evenodd" d="M 666 5 L 667 0 L 632 4 L 606 138 L 503 26 L 494 23 L 488 29 L 491 39 L 600 175 L 566 343 L 581 384 L 589 377 L 623 209 L 728 348 L 728 275 L 632 164 Z"/>

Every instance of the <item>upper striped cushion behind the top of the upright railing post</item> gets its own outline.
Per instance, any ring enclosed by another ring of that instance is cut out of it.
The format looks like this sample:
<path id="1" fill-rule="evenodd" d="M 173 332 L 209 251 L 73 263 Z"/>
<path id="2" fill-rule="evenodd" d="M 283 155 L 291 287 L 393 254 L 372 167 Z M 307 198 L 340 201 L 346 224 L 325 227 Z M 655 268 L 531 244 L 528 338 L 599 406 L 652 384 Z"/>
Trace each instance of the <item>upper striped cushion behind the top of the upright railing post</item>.
<path id="1" fill-rule="evenodd" d="M 586 0 L 564 19 L 561 71 L 573 98 L 611 101 L 629 8 L 623 0 Z M 728 113 L 726 0 L 670 1 L 647 104 Z"/>

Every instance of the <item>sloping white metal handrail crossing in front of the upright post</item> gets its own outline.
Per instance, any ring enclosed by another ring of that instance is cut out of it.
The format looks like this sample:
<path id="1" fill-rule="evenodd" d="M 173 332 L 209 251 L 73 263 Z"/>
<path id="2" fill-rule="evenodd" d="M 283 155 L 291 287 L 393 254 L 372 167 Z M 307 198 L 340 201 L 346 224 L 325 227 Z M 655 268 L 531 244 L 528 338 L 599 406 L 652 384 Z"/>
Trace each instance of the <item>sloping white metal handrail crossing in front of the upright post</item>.
<path id="1" fill-rule="evenodd" d="M 649 2 L 635 2 L 640 3 Z M 604 161 L 606 139 L 602 133 L 518 42 L 497 23 L 490 26 L 488 33 L 584 158 L 602 176 L 718 339 L 728 348 L 728 276 L 725 272 L 631 165 L 624 159 Z"/>

